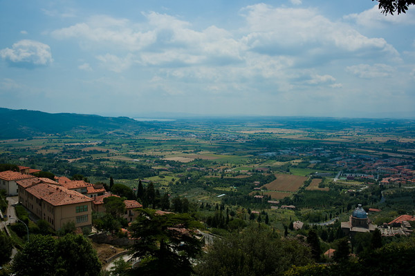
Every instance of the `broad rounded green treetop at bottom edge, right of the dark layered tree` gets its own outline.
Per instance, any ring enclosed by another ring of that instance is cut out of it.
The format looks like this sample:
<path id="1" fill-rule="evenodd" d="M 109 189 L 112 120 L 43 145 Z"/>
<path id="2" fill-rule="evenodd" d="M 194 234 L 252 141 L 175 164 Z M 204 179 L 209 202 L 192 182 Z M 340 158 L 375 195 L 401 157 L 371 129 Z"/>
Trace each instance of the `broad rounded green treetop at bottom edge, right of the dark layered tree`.
<path id="1" fill-rule="evenodd" d="M 196 266 L 200 276 L 279 275 L 293 265 L 313 263 L 310 249 L 296 239 L 278 237 L 266 226 L 216 239 Z"/>

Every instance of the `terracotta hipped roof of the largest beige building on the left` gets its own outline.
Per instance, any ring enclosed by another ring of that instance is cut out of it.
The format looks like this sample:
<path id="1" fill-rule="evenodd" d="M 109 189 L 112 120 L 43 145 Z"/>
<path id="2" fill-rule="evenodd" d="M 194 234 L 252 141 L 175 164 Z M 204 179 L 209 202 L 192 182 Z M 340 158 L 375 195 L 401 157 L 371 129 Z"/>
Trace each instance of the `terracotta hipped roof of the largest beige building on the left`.
<path id="1" fill-rule="evenodd" d="M 37 184 L 27 188 L 26 190 L 38 199 L 43 199 L 53 206 L 93 201 L 93 199 L 86 197 L 81 193 L 77 193 L 75 190 L 68 190 L 62 186 L 50 185 L 46 183 Z"/>

